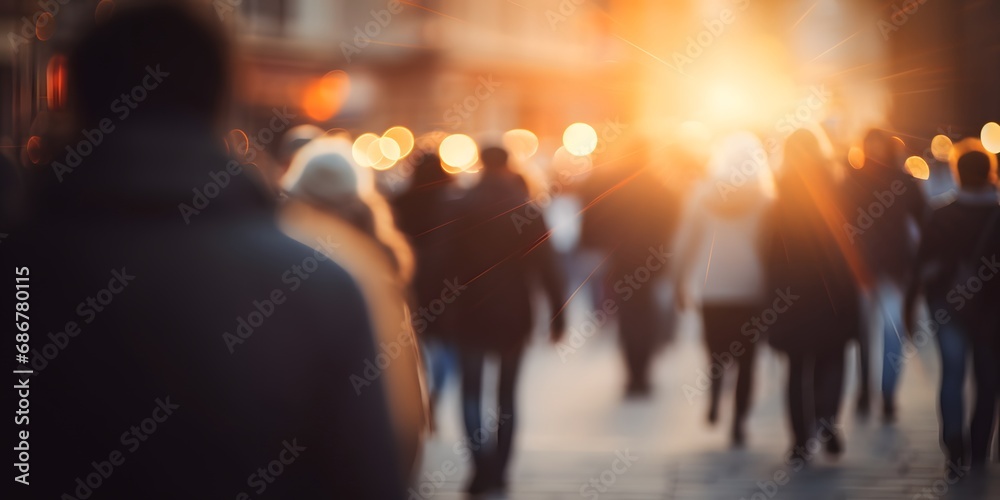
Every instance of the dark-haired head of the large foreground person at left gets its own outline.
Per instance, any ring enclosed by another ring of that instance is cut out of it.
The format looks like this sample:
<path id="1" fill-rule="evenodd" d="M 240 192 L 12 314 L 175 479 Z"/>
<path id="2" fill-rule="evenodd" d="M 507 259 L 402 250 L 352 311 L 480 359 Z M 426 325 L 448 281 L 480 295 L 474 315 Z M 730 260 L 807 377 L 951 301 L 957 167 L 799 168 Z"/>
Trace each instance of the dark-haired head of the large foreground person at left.
<path id="1" fill-rule="evenodd" d="M 68 82 L 83 123 L 126 110 L 180 112 L 209 123 L 220 117 L 229 89 L 224 30 L 207 11 L 178 3 L 116 8 L 80 40 Z"/>

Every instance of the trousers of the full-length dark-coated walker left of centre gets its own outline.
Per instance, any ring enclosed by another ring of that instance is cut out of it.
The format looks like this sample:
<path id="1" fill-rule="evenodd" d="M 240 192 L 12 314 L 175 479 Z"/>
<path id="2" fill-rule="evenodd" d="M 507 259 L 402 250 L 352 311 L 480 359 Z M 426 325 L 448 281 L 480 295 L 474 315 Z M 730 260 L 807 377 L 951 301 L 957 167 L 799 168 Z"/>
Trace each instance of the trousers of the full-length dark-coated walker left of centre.
<path id="1" fill-rule="evenodd" d="M 484 418 L 483 366 L 489 354 L 497 354 L 499 357 L 500 380 L 496 411 L 488 412 Z M 479 349 L 463 349 L 461 352 L 462 417 L 477 474 L 485 472 L 501 480 L 506 474 L 517 420 L 514 392 L 521 368 L 521 354 L 521 349 L 503 353 L 490 353 Z M 494 434 L 495 441 L 492 439 Z M 493 443 L 495 446 L 491 447 Z"/>

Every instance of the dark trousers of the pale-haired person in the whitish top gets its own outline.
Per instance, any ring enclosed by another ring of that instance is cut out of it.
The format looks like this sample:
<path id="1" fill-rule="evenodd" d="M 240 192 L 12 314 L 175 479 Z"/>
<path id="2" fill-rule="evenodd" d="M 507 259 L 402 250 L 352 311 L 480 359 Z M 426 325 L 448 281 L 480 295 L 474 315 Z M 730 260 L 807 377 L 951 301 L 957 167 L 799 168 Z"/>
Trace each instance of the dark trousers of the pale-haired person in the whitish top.
<path id="1" fill-rule="evenodd" d="M 721 370 L 710 370 L 711 386 L 709 404 L 718 408 L 726 368 L 736 369 L 736 405 L 733 427 L 740 427 L 750 409 L 753 393 L 754 360 L 757 343 L 741 333 L 743 324 L 760 314 L 757 305 L 723 305 L 706 303 L 702 307 L 702 324 L 705 327 L 705 345 L 709 363 L 720 365 Z M 757 339 L 760 342 L 760 339 Z M 732 361 L 730 361 L 732 360 Z M 719 373 L 719 376 L 715 376 Z"/>

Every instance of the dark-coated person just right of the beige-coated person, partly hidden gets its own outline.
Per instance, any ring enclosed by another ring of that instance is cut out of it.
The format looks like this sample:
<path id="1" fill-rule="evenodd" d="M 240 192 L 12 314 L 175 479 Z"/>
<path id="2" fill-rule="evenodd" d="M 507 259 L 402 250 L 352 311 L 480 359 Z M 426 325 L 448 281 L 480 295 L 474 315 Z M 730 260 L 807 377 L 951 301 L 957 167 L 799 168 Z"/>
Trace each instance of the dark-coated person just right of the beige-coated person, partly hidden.
<path id="1" fill-rule="evenodd" d="M 416 161 L 412 184 L 392 202 L 396 224 L 409 238 L 416 260 L 411 309 L 414 330 L 427 358 L 432 409 L 458 368 L 455 314 L 448 307 L 454 300 L 451 297 L 462 293 L 453 253 L 460 218 L 458 196 L 451 176 L 441 168 L 441 159 L 424 153 Z"/>

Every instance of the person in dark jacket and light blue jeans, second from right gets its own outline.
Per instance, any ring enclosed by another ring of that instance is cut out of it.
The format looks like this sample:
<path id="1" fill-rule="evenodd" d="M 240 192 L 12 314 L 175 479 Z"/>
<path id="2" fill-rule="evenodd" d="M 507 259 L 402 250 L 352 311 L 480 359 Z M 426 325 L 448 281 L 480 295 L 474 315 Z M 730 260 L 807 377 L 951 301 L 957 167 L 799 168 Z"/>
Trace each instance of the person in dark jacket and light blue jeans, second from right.
<path id="1" fill-rule="evenodd" d="M 872 277 L 871 310 L 881 320 L 882 419 L 896 419 L 896 386 L 903 369 L 903 292 L 912 279 L 918 230 L 927 213 L 927 201 L 916 179 L 903 170 L 902 143 L 881 129 L 864 138 L 864 167 L 852 170 L 847 186 L 854 194 L 848 239 L 864 249 L 867 272 Z M 867 350 L 870 336 L 861 332 L 860 346 Z M 868 362 L 867 352 L 862 362 Z M 867 366 L 863 367 L 858 412 L 869 408 Z"/>

